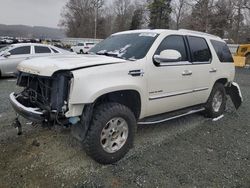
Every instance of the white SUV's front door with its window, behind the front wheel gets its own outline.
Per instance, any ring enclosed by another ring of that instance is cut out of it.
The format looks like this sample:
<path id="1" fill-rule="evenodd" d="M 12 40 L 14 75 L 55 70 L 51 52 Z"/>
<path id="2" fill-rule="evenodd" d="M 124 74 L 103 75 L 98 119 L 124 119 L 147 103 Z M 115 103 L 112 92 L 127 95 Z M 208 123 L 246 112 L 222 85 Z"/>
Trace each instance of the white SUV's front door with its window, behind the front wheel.
<path id="1" fill-rule="evenodd" d="M 163 50 L 176 50 L 182 58 L 178 62 L 156 63 L 154 58 L 148 63 L 148 116 L 170 112 L 192 106 L 193 95 L 192 63 L 189 61 L 186 43 L 183 36 L 167 36 L 155 55 Z"/>

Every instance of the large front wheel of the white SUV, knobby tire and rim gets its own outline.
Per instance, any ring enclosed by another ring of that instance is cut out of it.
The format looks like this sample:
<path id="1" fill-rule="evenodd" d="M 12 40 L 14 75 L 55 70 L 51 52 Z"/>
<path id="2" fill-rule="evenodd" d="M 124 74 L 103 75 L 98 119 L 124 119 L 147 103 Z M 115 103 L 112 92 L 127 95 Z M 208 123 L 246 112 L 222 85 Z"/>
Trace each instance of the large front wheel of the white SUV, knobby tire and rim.
<path id="1" fill-rule="evenodd" d="M 129 108 L 117 103 L 101 104 L 93 114 L 84 147 L 101 164 L 120 160 L 133 145 L 136 119 Z"/>

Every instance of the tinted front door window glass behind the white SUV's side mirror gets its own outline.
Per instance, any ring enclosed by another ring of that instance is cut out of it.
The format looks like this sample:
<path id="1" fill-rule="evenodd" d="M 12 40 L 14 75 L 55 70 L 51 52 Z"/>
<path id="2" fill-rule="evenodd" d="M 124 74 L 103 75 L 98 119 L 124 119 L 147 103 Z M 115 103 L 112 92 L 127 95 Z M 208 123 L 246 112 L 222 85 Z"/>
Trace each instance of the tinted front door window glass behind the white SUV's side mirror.
<path id="1" fill-rule="evenodd" d="M 187 61 L 186 46 L 182 36 L 175 35 L 166 37 L 155 54 L 159 55 L 163 50 L 177 50 L 181 54 L 182 61 Z"/>

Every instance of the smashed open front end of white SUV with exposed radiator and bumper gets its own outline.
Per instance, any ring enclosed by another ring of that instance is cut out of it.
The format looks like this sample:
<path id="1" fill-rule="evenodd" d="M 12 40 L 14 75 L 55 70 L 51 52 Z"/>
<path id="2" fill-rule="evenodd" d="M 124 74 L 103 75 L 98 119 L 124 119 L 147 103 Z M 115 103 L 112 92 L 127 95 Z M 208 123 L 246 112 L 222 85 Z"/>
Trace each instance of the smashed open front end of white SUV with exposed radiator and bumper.
<path id="1" fill-rule="evenodd" d="M 63 124 L 68 111 L 70 72 L 57 72 L 51 77 L 20 72 L 17 85 L 21 93 L 11 93 L 10 102 L 17 114 L 32 122 Z"/>

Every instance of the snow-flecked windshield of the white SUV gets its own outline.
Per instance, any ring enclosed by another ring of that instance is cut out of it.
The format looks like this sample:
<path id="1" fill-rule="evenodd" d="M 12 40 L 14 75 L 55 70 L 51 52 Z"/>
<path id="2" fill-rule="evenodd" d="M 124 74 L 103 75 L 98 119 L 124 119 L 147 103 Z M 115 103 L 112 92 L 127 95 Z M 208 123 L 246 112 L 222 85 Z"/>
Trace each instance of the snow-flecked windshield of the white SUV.
<path id="1" fill-rule="evenodd" d="M 156 33 L 130 33 L 112 35 L 98 43 L 89 53 L 107 55 L 126 60 L 142 59 L 154 43 Z"/>

